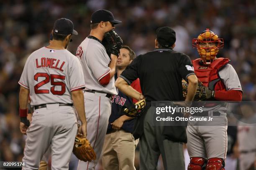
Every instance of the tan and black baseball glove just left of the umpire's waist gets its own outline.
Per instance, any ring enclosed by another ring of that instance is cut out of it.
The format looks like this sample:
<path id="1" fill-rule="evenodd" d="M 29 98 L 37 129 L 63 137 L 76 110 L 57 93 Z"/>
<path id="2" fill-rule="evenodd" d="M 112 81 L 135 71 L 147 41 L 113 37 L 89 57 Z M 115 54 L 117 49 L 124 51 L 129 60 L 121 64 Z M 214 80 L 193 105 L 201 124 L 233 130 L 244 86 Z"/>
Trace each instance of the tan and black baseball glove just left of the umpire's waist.
<path id="1" fill-rule="evenodd" d="M 124 106 L 123 112 L 125 112 L 125 115 L 129 117 L 137 117 L 140 116 L 143 110 L 146 106 L 146 100 L 140 100 L 136 102 L 135 104 L 131 104 L 130 106 Z"/>

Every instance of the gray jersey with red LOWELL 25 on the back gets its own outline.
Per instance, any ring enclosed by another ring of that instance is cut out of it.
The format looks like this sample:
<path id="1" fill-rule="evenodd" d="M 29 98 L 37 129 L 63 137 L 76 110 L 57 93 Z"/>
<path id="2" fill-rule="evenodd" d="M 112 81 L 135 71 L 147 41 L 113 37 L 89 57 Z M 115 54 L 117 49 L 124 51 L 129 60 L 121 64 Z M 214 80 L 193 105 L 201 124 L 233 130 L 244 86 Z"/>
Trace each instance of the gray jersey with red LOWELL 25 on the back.
<path id="1" fill-rule="evenodd" d="M 30 90 L 31 105 L 73 103 L 71 91 L 85 87 L 78 58 L 47 47 L 28 57 L 18 83 Z"/>

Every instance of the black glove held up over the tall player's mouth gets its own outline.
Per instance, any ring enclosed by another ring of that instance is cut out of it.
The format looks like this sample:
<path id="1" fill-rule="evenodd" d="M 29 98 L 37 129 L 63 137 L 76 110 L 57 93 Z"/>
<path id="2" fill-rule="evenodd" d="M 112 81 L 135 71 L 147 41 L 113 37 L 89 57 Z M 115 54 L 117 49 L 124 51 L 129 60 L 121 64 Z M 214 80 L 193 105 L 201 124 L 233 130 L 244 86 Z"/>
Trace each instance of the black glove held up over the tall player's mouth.
<path id="1" fill-rule="evenodd" d="M 108 55 L 113 54 L 118 56 L 120 53 L 119 50 L 123 45 L 123 40 L 114 30 L 110 30 L 105 33 L 102 43 L 105 46 Z"/>

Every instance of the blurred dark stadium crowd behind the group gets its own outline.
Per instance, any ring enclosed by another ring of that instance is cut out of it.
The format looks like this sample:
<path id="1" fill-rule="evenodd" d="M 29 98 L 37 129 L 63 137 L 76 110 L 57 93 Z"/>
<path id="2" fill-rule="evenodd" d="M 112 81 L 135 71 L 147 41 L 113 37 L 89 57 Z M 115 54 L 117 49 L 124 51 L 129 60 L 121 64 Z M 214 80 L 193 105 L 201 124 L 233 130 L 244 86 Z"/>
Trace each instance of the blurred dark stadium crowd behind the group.
<path id="1" fill-rule="evenodd" d="M 90 33 L 92 12 L 102 8 L 122 21 L 115 30 L 136 55 L 153 50 L 156 28 L 169 26 L 177 35 L 174 50 L 195 59 L 192 38 L 210 28 L 224 38 L 218 56 L 231 60 L 243 98 L 256 99 L 255 0 L 0 0 L 0 161 L 23 157 L 18 80 L 28 55 L 48 44 L 53 23 L 61 17 L 71 19 L 79 32 L 68 47 L 75 54 Z"/>

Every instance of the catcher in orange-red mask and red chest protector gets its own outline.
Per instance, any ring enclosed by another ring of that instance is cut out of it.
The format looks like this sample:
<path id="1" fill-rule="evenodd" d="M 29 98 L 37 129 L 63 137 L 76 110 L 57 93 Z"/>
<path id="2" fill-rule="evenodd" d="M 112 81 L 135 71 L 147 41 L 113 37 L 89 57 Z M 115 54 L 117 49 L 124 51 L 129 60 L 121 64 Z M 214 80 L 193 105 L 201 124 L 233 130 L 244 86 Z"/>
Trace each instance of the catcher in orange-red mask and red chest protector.
<path id="1" fill-rule="evenodd" d="M 193 39 L 200 58 L 193 60 L 195 74 L 204 86 L 208 87 L 207 100 L 241 101 L 242 89 L 235 69 L 228 64 L 228 58 L 217 58 L 216 55 L 223 47 L 223 39 L 214 32 L 206 29 Z M 222 126 L 187 126 L 187 150 L 190 157 L 188 170 L 225 170 L 227 154 L 226 113 L 223 111 L 205 111 L 201 115 L 211 116 Z M 190 123 L 190 122 L 189 122 Z"/>

